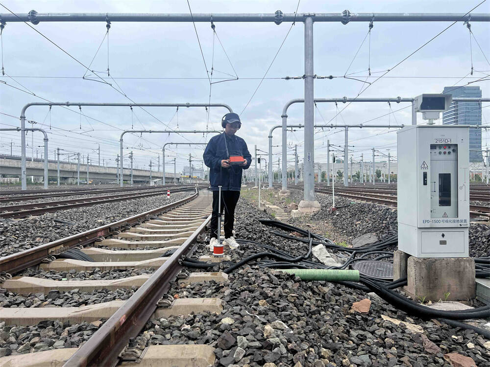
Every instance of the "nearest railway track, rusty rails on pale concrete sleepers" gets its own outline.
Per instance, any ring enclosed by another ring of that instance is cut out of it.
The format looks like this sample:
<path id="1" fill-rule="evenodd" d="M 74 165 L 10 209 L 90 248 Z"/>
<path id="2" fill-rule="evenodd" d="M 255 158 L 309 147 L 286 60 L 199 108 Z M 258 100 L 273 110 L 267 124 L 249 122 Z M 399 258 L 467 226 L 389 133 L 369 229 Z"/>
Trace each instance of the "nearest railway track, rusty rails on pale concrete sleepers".
<path id="1" fill-rule="evenodd" d="M 39 307 L 39 308 L 0 308 L 1 319 L 6 324 L 17 327 L 38 324 L 41 321 L 59 321 L 73 323 L 99 322 L 107 319 L 102 327 L 79 348 L 52 349 L 36 354 L 36 363 L 67 361 L 64 366 L 115 366 L 121 361 L 133 361 L 134 348 L 120 353 L 128 345 L 131 337 L 136 337 L 150 317 L 167 317 L 169 315 L 187 315 L 203 310 L 220 312 L 221 301 L 218 298 L 188 298 L 173 301 L 165 297 L 170 289 L 170 282 L 181 272 L 179 260 L 190 256 L 196 249 L 197 242 L 210 221 L 212 195 L 209 191 L 198 191 L 178 202 L 141 213 L 124 220 L 111 223 L 96 229 L 63 238 L 23 252 L 0 258 L 2 274 L 16 274 L 33 265 L 39 265 L 45 271 L 69 272 L 98 268 L 100 271 L 111 269 L 142 269 L 153 267 L 157 270 L 151 275 L 137 275 L 123 279 L 102 280 L 49 280 L 37 277 L 16 276 L 1 284 L 2 288 L 18 294 L 44 293 L 53 290 L 67 292 L 72 289 L 80 291 L 97 291 L 104 289 L 138 290 L 126 301 L 110 301 L 80 307 Z M 151 219 L 158 215 L 158 219 Z M 146 221 L 146 223 L 142 223 Z M 135 227 L 136 226 L 136 227 Z M 125 230 L 125 231 L 123 231 Z M 123 231 L 123 232 L 121 232 Z M 114 238 L 105 238 L 113 235 Z M 52 260 L 54 254 L 67 249 L 85 247 L 82 252 L 91 256 L 96 262 L 74 259 Z M 141 250 L 151 246 L 156 250 Z M 108 247 L 109 249 L 101 249 Z M 112 248 L 112 249 L 111 249 Z M 122 250 L 115 249 L 137 249 Z M 170 257 L 159 257 L 168 250 L 174 251 Z M 203 259 L 206 260 L 206 259 Z M 216 261 L 216 260 L 215 260 Z M 194 276 L 193 276 L 194 275 Z M 215 273 L 191 274 L 184 282 L 215 279 L 226 280 L 225 275 Z M 163 298 L 162 298 L 163 297 Z M 152 345 L 145 349 L 146 355 L 161 358 L 158 366 L 167 366 L 165 358 L 180 358 L 175 355 L 177 347 L 169 345 Z M 186 345 L 187 354 L 193 361 L 199 358 L 213 359 L 214 348 L 206 345 Z M 204 353 L 205 356 L 196 355 Z M 206 354 L 207 353 L 207 354 Z M 144 355 L 140 355 L 144 358 Z M 149 357 L 148 357 L 149 358 Z M 0 358 L 9 359 L 14 366 L 32 363 L 32 357 L 26 354 Z M 137 359 L 137 358 L 136 358 Z M 168 361 L 168 360 L 167 360 Z M 6 361 L 5 361 L 6 362 Z M 212 362 L 211 362 L 212 363 Z M 129 364 L 128 366 L 131 366 Z M 135 364 L 134 366 L 138 366 Z"/>

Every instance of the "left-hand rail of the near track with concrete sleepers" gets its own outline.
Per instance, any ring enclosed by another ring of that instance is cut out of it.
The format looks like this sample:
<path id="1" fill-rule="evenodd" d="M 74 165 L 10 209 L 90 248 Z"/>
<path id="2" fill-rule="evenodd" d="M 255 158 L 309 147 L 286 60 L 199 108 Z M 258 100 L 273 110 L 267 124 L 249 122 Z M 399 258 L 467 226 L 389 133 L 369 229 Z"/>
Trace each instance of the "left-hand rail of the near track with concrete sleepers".
<path id="1" fill-rule="evenodd" d="M 56 241 L 49 242 L 44 245 L 33 247 L 25 251 L 13 253 L 8 256 L 0 257 L 0 272 L 15 274 L 30 266 L 37 265 L 43 261 L 43 259 L 49 257 L 52 254 L 64 252 L 74 246 L 88 245 L 95 242 L 101 237 L 106 237 L 120 229 L 128 226 L 141 223 L 141 221 L 150 217 L 151 215 L 159 214 L 168 210 L 171 210 L 177 206 L 181 206 L 197 197 L 196 192 L 184 199 L 181 199 L 175 203 L 160 206 L 155 209 L 145 211 L 140 214 L 133 215 L 128 218 L 121 219 L 117 222 L 109 223 L 104 226 L 100 226 L 94 229 L 88 229 L 84 232 L 74 234 L 69 237 L 61 238 Z"/>

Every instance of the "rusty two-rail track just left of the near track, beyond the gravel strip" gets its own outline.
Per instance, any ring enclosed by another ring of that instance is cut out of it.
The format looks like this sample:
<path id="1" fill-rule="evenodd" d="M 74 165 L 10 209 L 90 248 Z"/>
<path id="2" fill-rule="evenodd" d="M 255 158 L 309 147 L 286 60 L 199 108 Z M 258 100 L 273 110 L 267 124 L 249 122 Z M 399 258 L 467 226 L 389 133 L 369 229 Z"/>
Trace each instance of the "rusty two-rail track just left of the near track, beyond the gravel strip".
<path id="1" fill-rule="evenodd" d="M 172 192 L 182 192 L 194 189 L 195 186 L 180 186 L 179 188 L 172 187 Z M 145 190 L 144 193 L 135 193 L 134 190 L 123 194 L 114 195 L 104 195 L 104 196 L 94 196 L 89 198 L 71 199 L 71 200 L 60 200 L 60 201 L 49 201 L 41 203 L 32 204 L 20 204 L 20 205 L 9 205 L 0 206 L 0 219 L 6 218 L 25 218 L 31 215 L 41 215 L 44 213 L 50 213 L 58 210 L 72 209 L 80 206 L 92 206 L 97 204 L 110 203 L 113 201 L 123 201 L 146 198 L 149 196 L 163 195 L 167 194 L 167 190 L 170 187 L 163 187 L 153 190 Z"/>

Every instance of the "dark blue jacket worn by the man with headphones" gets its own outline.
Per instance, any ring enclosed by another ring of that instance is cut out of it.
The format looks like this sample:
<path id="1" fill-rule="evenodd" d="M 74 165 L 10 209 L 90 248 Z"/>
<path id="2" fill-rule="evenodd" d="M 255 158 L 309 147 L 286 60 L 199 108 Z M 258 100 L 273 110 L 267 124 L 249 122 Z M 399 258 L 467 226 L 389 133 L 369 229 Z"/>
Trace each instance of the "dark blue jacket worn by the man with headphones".
<path id="1" fill-rule="evenodd" d="M 231 156 L 242 156 L 245 158 L 247 161 L 246 165 L 232 165 L 230 168 L 221 167 L 221 160 L 229 159 L 226 146 Z M 244 139 L 236 135 L 230 138 L 224 133 L 216 135 L 209 139 L 202 158 L 204 158 L 204 164 L 209 167 L 209 182 L 211 183 L 212 191 L 218 191 L 218 186 L 223 186 L 221 187 L 223 191 L 240 191 L 242 187 L 242 170 L 248 169 L 252 162 L 252 156 L 248 152 Z"/>

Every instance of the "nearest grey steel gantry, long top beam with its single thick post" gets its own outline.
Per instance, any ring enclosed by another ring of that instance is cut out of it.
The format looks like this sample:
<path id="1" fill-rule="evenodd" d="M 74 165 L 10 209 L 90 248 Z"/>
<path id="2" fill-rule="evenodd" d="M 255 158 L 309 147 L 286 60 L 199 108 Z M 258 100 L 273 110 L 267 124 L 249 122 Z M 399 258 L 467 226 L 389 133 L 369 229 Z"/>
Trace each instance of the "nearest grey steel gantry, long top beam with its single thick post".
<path id="1" fill-rule="evenodd" d="M 169 13 L 28 13 L 0 14 L 3 23 L 30 22 L 283 22 L 304 23 L 304 202 L 300 203 L 302 211 L 319 210 L 314 192 L 314 65 L 313 65 L 313 24 L 315 22 L 490 22 L 490 14 L 481 13 L 353 13 L 344 10 L 342 13 L 287 13 L 277 10 L 274 14 L 169 14 Z M 22 118 L 22 116 L 21 116 Z M 24 122 L 23 122 L 24 126 Z M 24 132 L 24 127 L 23 127 Z M 23 144 L 25 144 L 25 136 Z M 24 146 L 25 150 L 25 146 Z M 23 174 L 25 171 L 25 160 Z M 284 163 L 284 160 L 283 160 Z M 23 187 L 24 188 L 24 187 Z M 308 204 L 309 203 L 309 204 Z M 310 208 L 310 209 L 308 209 Z M 77 353 L 78 355 L 78 353 Z"/>

